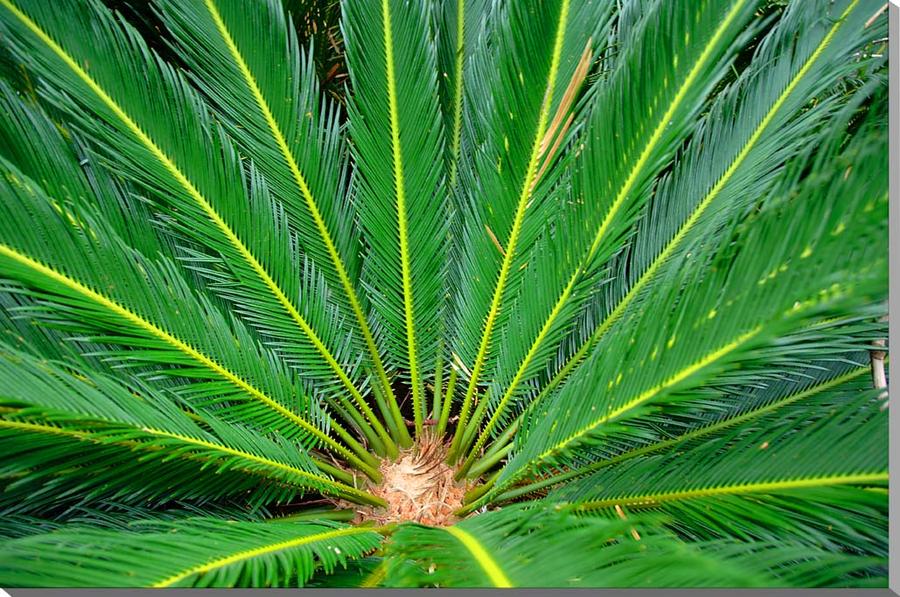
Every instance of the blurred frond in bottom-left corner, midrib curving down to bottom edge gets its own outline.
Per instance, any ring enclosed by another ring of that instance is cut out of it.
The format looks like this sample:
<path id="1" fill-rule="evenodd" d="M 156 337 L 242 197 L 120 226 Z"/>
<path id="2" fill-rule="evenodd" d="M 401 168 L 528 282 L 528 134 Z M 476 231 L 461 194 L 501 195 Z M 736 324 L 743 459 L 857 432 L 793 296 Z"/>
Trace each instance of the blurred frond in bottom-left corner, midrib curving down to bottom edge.
<path id="1" fill-rule="evenodd" d="M 329 522 L 137 520 L 127 529 L 72 526 L 0 546 L 4 586 L 302 587 L 375 550 L 367 527 Z M 40 561 L 41 567 L 35 568 Z"/>

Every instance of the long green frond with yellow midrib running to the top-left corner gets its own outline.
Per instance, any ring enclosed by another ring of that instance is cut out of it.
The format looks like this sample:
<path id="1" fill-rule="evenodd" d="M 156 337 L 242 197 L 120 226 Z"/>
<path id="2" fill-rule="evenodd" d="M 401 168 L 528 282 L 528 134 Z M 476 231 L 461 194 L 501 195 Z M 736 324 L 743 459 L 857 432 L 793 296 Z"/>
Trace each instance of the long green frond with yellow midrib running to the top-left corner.
<path id="1" fill-rule="evenodd" d="M 98 150 L 154 194 L 175 230 L 212 252 L 194 254 L 195 267 L 305 375 L 325 377 L 332 399 L 355 415 L 371 442 L 389 443 L 348 368 L 355 366 L 346 346 L 351 335 L 341 329 L 316 269 L 293 250 L 296 236 L 283 207 L 254 169 L 245 174 L 231 141 L 183 78 L 93 0 L 53 10 L 38 3 L 28 12 L 9 1 L 3 6 L 22 59 L 81 108 L 48 89 L 56 105 L 72 111 Z M 73 23 L 103 34 L 86 40 L 72 34 Z M 178 107 L 161 110 L 161 98 Z M 117 134 L 109 134 L 110 126 Z"/>

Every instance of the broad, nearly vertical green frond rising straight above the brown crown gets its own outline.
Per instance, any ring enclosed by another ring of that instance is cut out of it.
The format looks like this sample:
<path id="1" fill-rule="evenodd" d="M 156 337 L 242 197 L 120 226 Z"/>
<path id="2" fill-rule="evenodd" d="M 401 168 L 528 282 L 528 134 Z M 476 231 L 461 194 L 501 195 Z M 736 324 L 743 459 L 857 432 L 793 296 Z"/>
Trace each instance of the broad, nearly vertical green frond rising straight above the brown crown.
<path id="1" fill-rule="evenodd" d="M 448 242 L 430 10 L 421 1 L 348 1 L 343 22 L 364 281 L 387 357 L 406 372 L 417 433 L 442 331 Z"/>

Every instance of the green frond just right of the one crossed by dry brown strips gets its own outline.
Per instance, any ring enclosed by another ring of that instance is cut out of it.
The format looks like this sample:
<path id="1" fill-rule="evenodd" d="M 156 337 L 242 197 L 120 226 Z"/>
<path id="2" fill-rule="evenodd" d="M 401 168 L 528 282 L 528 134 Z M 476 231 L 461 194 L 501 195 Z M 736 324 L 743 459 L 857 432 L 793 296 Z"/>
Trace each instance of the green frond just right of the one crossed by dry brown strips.
<path id="1" fill-rule="evenodd" d="M 594 271 L 595 260 L 602 263 L 611 253 L 601 247 L 618 246 L 653 174 L 692 130 L 696 112 L 727 63 L 723 55 L 728 56 L 752 8 L 752 2 L 660 3 L 635 31 L 629 45 L 634 51 L 619 59 L 610 80 L 597 91 L 581 141 L 578 172 L 583 176 L 575 176 L 577 195 L 567 201 L 570 212 L 558 224 L 566 234 L 548 231 L 522 278 L 515 311 L 501 334 L 490 406 L 483 410 L 491 416 L 472 446 L 469 463 L 504 421 L 520 383 L 536 371 L 535 365 L 546 362 L 571 325 L 593 286 L 585 274 Z M 667 48 L 665 55 L 661 47 Z M 670 48 L 677 48 L 671 57 Z M 634 80 L 638 72 L 640 83 Z M 647 109 L 635 110 L 634 105 Z M 609 135 L 613 122 L 620 131 L 616 136 Z M 480 422 L 474 417 L 472 425 Z"/>

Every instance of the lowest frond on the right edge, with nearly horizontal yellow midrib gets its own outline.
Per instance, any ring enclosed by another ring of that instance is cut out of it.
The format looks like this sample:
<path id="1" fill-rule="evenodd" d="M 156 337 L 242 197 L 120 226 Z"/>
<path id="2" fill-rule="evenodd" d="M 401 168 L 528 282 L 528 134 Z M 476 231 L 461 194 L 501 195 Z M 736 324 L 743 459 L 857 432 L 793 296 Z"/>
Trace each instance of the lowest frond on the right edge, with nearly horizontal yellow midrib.
<path id="1" fill-rule="evenodd" d="M 780 538 L 884 555 L 887 495 L 872 490 L 888 478 L 882 406 L 871 389 L 831 390 L 751 425 L 691 434 L 549 499 L 582 511 L 663 511 L 694 538 Z"/>

